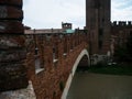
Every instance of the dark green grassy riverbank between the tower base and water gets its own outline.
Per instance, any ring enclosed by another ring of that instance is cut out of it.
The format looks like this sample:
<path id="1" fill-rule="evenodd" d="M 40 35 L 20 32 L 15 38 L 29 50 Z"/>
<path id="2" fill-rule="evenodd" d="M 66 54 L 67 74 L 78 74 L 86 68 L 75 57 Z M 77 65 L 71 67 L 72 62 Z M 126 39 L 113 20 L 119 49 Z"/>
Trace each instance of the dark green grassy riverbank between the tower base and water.
<path id="1" fill-rule="evenodd" d="M 109 75 L 127 75 L 132 76 L 132 64 L 116 64 L 116 65 L 95 65 L 85 68 L 78 68 L 77 70 L 87 70 L 96 74 L 109 74 Z"/>

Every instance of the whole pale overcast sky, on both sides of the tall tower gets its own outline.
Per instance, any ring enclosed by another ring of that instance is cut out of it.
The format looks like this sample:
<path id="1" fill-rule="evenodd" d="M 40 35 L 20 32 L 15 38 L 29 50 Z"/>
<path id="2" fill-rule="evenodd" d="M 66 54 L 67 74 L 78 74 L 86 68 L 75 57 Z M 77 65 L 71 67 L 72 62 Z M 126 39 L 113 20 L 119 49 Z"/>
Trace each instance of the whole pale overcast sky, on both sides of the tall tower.
<path id="1" fill-rule="evenodd" d="M 61 28 L 62 22 L 84 28 L 85 2 L 86 0 L 23 0 L 23 23 L 32 29 Z M 112 0 L 111 12 L 111 21 L 132 21 L 132 0 Z"/>

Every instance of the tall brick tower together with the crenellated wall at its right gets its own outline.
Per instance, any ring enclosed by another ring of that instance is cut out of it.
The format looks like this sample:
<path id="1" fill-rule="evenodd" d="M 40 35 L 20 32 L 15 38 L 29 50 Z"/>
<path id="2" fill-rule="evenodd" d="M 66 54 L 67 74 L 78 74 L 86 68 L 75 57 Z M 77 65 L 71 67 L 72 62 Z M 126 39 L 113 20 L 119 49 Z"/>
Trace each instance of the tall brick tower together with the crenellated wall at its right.
<path id="1" fill-rule="evenodd" d="M 110 20 L 111 0 L 86 0 L 86 29 L 91 54 L 113 53 L 116 45 L 125 44 L 132 33 L 132 21 Z"/>

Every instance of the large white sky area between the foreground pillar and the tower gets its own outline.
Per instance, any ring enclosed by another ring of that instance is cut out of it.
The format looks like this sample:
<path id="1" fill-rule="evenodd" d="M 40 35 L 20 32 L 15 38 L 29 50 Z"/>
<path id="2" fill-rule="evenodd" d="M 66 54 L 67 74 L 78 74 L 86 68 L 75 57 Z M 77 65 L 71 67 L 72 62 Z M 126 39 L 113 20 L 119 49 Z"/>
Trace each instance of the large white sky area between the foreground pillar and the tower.
<path id="1" fill-rule="evenodd" d="M 29 0 L 23 10 L 24 24 L 32 28 L 61 28 L 62 22 L 85 25 L 85 0 Z"/>

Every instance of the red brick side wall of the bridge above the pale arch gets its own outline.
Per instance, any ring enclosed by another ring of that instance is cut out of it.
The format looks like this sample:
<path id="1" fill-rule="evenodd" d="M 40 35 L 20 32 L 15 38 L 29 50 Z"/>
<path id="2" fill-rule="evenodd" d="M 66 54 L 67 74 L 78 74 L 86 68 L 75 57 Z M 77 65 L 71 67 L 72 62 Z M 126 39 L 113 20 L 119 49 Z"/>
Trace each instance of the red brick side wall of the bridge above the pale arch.
<path id="1" fill-rule="evenodd" d="M 74 62 L 88 47 L 88 33 L 26 34 L 26 68 L 36 97 L 59 99 Z"/>

